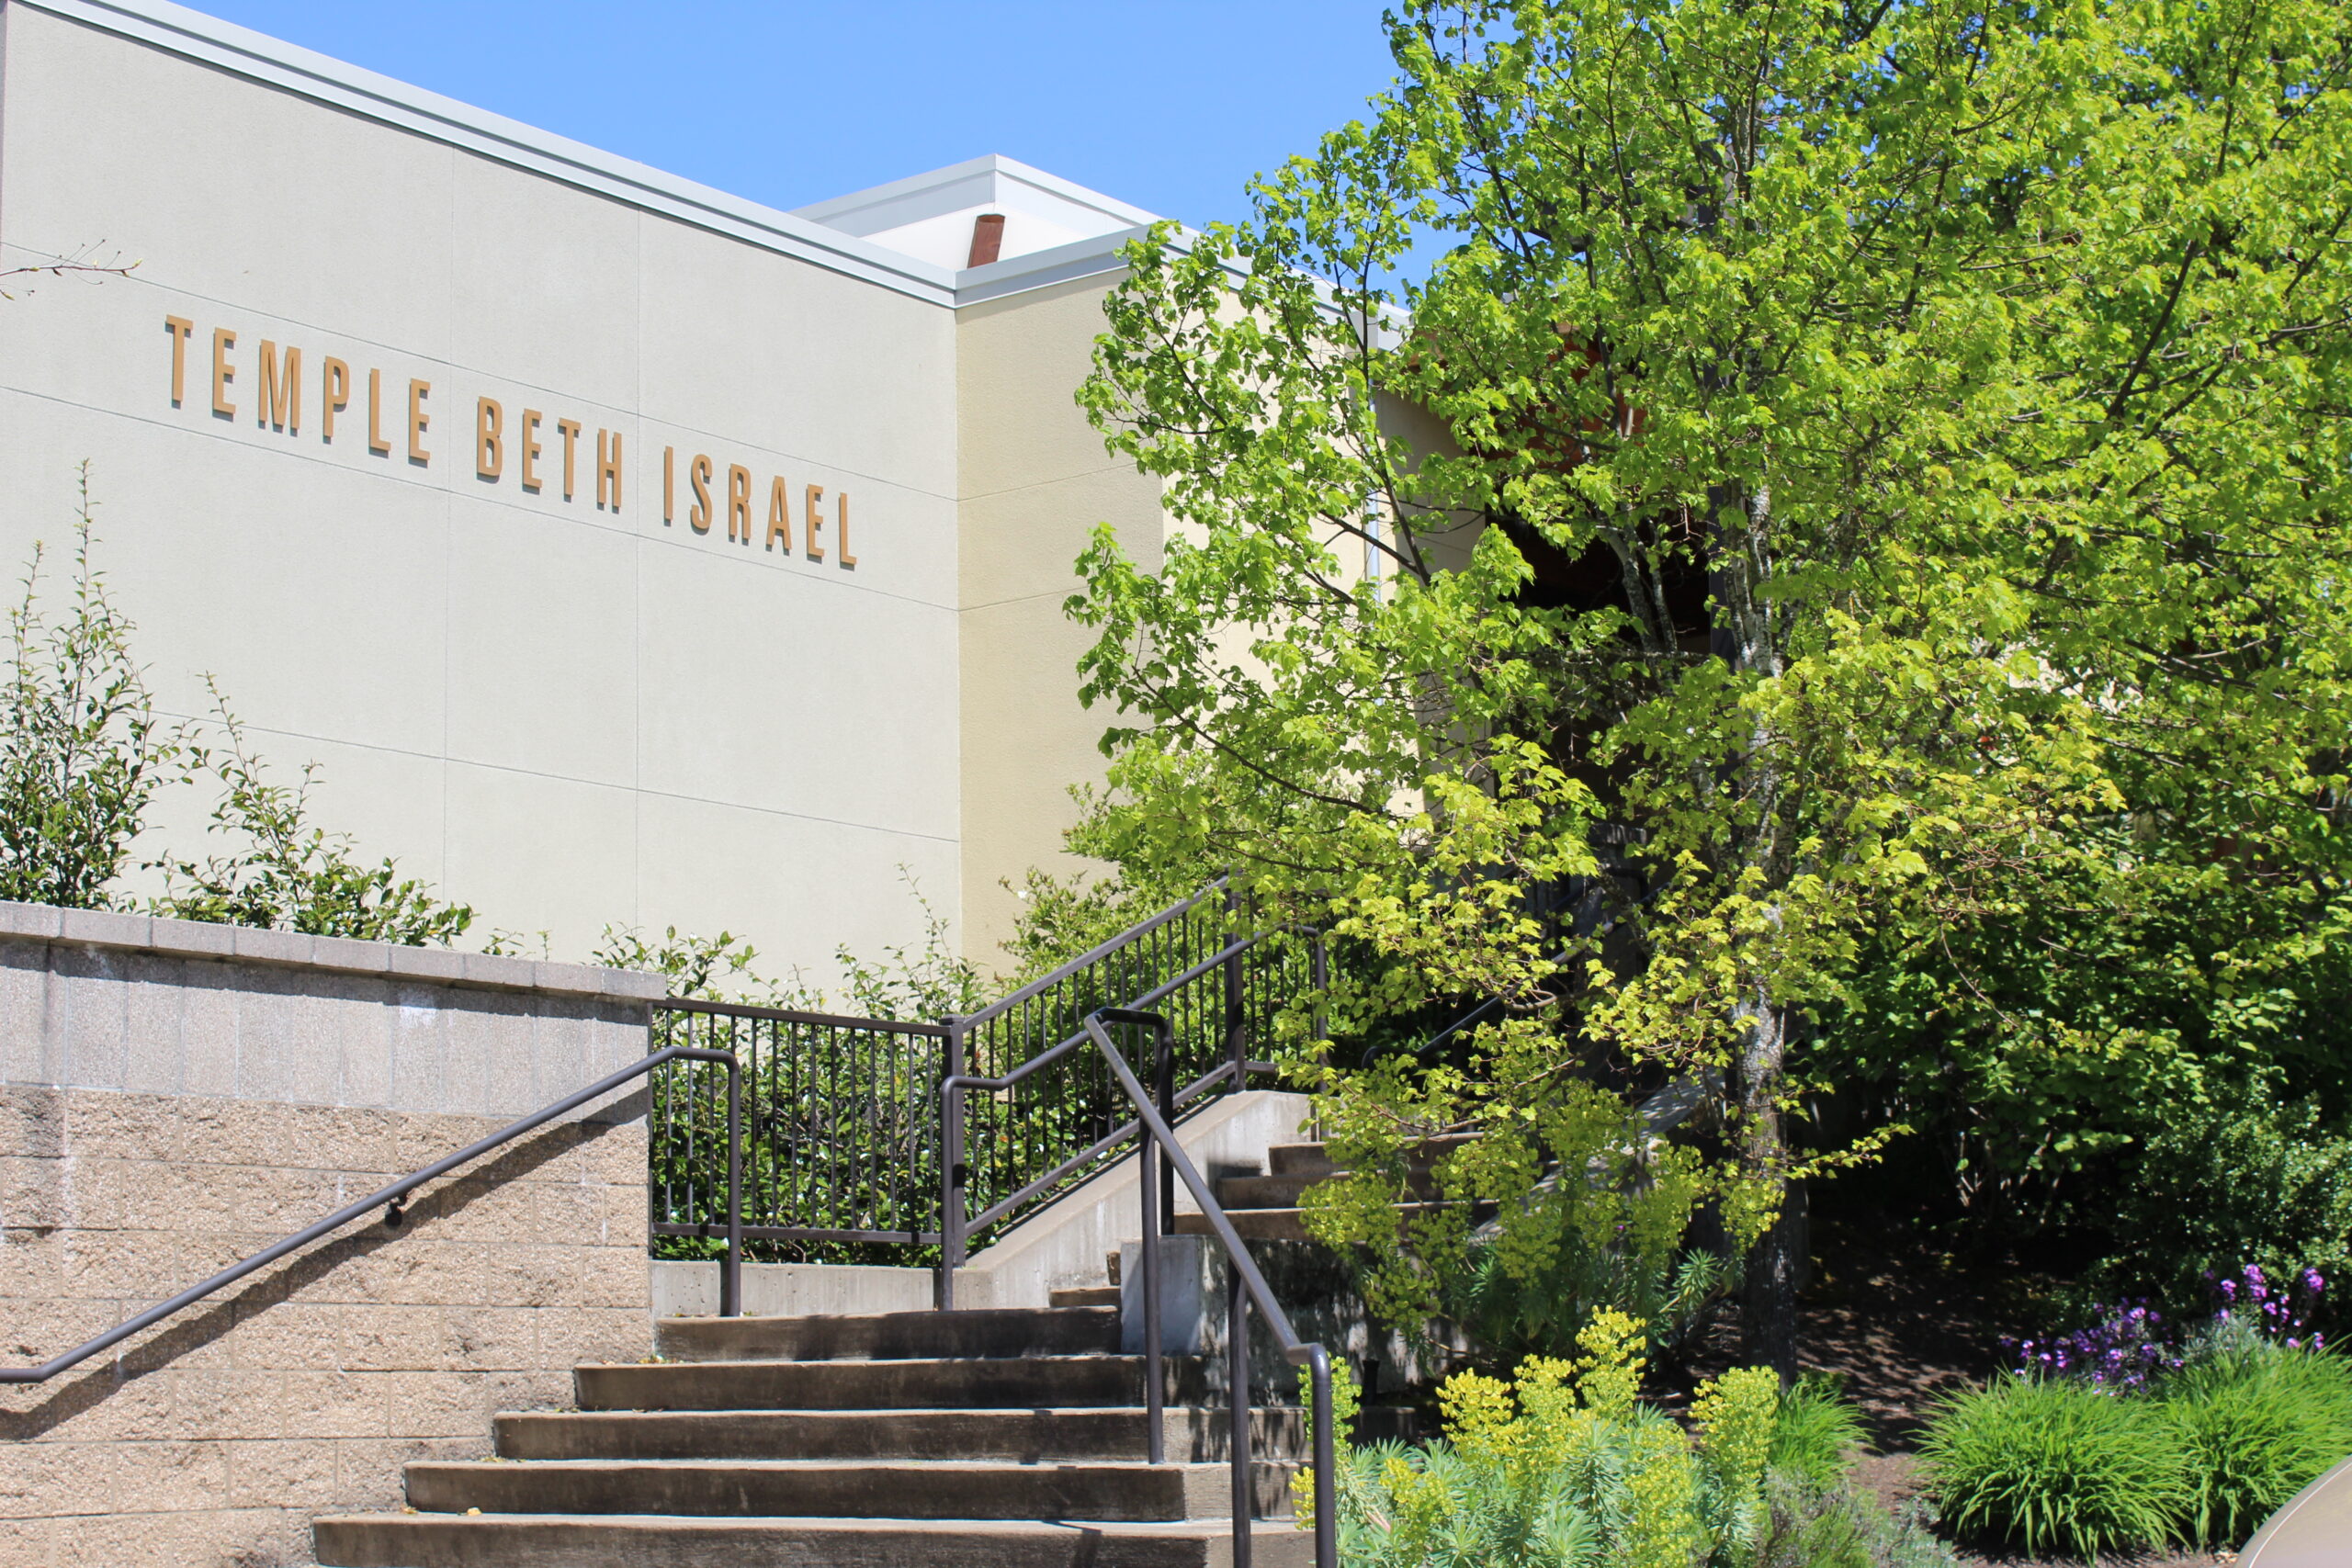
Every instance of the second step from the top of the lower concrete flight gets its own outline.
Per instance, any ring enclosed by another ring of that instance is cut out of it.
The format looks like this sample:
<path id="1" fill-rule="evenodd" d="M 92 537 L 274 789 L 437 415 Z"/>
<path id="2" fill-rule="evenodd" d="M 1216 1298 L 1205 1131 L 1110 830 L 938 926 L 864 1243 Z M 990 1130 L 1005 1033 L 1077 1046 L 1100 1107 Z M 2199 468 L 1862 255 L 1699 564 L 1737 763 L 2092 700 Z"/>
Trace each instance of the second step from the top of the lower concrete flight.
<path id="1" fill-rule="evenodd" d="M 1164 1368 L 1169 1403 L 1200 1403 L 1200 1356 L 1167 1356 Z M 1143 1401 L 1143 1356 L 652 1361 L 579 1366 L 572 1385 L 583 1410 L 1131 1406 Z"/>

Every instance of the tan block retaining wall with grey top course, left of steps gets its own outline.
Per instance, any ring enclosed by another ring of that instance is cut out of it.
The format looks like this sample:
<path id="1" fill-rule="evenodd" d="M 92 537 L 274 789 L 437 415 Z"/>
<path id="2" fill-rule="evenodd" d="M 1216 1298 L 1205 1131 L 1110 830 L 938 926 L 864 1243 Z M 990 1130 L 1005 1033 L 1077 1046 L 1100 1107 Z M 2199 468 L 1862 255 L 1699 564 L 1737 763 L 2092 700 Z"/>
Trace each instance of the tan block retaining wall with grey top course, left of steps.
<path id="1" fill-rule="evenodd" d="M 238 957 L 233 947 L 242 947 Z M 647 1051 L 652 976 L 0 905 L 0 1361 L 38 1363 Z M 635 1117 L 635 1119 L 633 1119 Z M 52 1382 L 0 1568 L 308 1563 L 322 1509 L 652 1347 L 623 1095 Z"/>

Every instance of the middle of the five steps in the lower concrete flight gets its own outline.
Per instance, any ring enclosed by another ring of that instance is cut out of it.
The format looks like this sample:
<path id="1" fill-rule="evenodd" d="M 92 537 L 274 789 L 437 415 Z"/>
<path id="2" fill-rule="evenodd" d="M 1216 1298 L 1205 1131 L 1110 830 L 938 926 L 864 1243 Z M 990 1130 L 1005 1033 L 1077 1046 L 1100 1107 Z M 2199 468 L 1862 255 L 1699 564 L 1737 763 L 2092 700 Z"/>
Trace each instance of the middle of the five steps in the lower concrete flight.
<path id="1" fill-rule="evenodd" d="M 1254 1410 L 1251 1453 L 1305 1453 L 1301 1410 Z M 1230 1455 L 1230 1415 L 1176 1406 L 1162 1436 L 1178 1462 Z M 508 1460 L 1141 1460 L 1143 1408 L 1070 1410 L 548 1410 L 496 1418 Z"/>

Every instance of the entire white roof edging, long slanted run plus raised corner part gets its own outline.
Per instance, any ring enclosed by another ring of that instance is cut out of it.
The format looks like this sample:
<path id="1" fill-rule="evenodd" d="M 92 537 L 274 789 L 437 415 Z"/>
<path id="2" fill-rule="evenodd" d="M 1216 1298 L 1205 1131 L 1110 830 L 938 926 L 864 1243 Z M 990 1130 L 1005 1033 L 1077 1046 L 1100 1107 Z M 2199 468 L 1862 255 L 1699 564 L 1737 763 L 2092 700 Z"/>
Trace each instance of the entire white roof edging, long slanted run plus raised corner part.
<path id="1" fill-rule="evenodd" d="M 960 273 L 828 228 L 809 216 L 854 207 L 861 200 L 873 200 L 877 193 L 891 193 L 901 186 L 908 190 L 922 188 L 950 174 L 950 169 L 915 174 L 891 186 L 875 186 L 873 190 L 858 190 L 847 197 L 802 207 L 800 212 L 781 212 L 677 174 L 666 174 L 652 165 L 604 153 L 583 141 L 508 120 L 487 108 L 475 108 L 473 103 L 365 71 L 315 49 L 289 45 L 282 38 L 240 28 L 233 21 L 207 16 L 186 5 L 172 5 L 172 0 L 0 0 L 0 7 L 7 5 L 24 5 L 101 33 L 129 38 L 362 120 L 463 148 L 492 162 L 677 219 L 680 223 L 691 223 L 694 228 L 741 240 L 743 244 L 809 261 L 934 306 L 976 303 L 1070 277 L 1117 270 L 1124 266 L 1120 247 L 1141 233 L 1141 226 L 1122 228 L 1096 240 Z M 1145 223 L 1150 221 L 1150 214 L 1141 209 L 1112 202 L 1101 193 L 1073 186 L 1042 169 L 1016 165 L 1014 160 L 981 158 L 971 165 L 955 165 L 953 172 L 978 172 L 995 165 L 1002 165 L 1016 179 L 1051 188 L 1056 195 L 1082 200 L 1108 214 L 1136 214 Z"/>

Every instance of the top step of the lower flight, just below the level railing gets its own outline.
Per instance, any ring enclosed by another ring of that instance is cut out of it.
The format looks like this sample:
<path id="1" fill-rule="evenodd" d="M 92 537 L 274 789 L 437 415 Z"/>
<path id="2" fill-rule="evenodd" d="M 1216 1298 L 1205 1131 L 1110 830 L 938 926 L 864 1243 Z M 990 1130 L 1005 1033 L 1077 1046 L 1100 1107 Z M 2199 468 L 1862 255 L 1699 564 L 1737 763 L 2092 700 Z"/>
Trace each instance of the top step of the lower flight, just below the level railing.
<path id="1" fill-rule="evenodd" d="M 993 1307 L 861 1316 L 670 1316 L 654 1324 L 654 1349 L 670 1361 L 1082 1356 L 1117 1347 L 1117 1300 L 1101 1307 Z"/>

